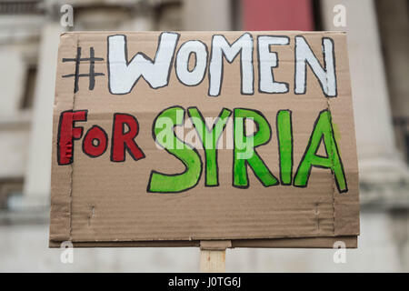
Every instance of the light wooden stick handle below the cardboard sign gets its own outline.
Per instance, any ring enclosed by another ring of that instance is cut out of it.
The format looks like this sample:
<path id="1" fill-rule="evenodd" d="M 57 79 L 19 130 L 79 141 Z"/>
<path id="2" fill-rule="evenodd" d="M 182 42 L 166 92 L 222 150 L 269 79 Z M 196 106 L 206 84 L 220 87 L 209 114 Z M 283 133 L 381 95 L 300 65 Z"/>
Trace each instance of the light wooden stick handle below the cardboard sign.
<path id="1" fill-rule="evenodd" d="M 200 272 L 224 273 L 225 249 L 232 247 L 230 240 L 200 242 Z"/>

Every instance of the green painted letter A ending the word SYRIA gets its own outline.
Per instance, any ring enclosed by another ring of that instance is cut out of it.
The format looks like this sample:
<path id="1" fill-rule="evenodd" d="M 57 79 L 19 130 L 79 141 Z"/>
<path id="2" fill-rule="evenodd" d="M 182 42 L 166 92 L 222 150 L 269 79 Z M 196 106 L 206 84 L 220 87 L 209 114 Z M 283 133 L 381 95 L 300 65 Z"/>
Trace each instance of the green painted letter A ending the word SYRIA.
<path id="1" fill-rule="evenodd" d="M 316 155 L 322 140 L 324 141 L 326 156 Z M 336 145 L 334 137 L 331 113 L 327 109 L 321 111 L 315 121 L 313 133 L 310 136 L 303 159 L 294 176 L 294 186 L 307 186 L 313 166 L 331 169 L 331 172 L 335 176 L 335 184 L 339 193 L 348 191 L 344 175 L 344 166 L 341 161 L 341 156 L 339 156 L 338 146 Z"/>

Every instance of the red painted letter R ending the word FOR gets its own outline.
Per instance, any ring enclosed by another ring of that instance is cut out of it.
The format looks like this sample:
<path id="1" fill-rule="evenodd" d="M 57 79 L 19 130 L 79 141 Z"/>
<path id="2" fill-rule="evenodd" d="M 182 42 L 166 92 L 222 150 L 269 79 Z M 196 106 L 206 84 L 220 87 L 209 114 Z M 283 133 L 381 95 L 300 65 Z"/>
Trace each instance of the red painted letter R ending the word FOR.
<path id="1" fill-rule="evenodd" d="M 126 133 L 125 125 L 128 127 Z M 133 115 L 115 113 L 112 131 L 111 161 L 124 162 L 125 149 L 128 150 L 129 155 L 131 155 L 135 161 L 145 157 L 134 140 L 139 132 L 139 125 Z"/>

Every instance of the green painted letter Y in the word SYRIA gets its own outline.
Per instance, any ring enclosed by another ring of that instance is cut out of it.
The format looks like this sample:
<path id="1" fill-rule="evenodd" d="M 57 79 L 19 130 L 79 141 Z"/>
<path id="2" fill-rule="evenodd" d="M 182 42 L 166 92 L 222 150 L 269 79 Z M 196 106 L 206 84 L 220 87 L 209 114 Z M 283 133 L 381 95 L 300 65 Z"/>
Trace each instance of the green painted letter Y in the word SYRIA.
<path id="1" fill-rule="evenodd" d="M 195 129 L 202 144 L 205 147 L 205 186 L 218 186 L 218 167 L 217 167 L 217 142 L 220 135 L 224 131 L 224 127 L 227 123 L 227 119 L 232 112 L 226 108 L 223 108 L 220 115 L 217 117 L 212 130 L 207 128 L 203 115 L 197 110 L 196 107 L 187 108 L 187 113 L 192 119 L 192 123 L 195 125 Z"/>

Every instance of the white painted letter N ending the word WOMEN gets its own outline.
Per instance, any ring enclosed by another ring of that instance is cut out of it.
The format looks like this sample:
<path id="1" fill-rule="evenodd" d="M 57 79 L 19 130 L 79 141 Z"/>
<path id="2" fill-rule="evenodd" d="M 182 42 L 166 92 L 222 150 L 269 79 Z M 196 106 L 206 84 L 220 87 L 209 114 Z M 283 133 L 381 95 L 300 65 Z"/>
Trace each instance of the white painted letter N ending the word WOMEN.
<path id="1" fill-rule="evenodd" d="M 323 37 L 324 68 L 315 57 L 311 47 L 303 36 L 295 36 L 295 94 L 305 94 L 306 63 L 310 65 L 314 75 L 320 81 L 324 94 L 328 97 L 336 96 L 335 55 L 334 42 L 331 38 Z"/>

